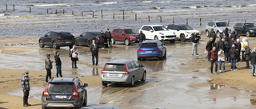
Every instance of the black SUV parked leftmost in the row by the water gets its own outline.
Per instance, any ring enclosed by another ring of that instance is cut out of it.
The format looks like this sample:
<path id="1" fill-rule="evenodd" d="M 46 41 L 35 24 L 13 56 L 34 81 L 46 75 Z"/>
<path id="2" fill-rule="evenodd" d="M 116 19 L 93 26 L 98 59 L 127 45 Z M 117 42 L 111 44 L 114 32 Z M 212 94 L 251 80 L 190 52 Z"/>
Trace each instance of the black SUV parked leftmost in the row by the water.
<path id="1" fill-rule="evenodd" d="M 41 48 L 50 45 L 54 49 L 59 49 L 60 46 L 70 46 L 71 49 L 74 45 L 74 36 L 68 32 L 50 31 L 44 37 L 40 37 L 38 43 Z"/>

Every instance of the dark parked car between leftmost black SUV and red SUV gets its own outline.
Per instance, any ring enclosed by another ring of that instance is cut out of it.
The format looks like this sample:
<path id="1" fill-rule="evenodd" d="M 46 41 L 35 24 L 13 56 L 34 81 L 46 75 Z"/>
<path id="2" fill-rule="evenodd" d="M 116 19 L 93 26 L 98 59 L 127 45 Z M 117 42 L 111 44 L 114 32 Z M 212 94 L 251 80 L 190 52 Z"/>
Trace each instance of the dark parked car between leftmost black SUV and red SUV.
<path id="1" fill-rule="evenodd" d="M 78 37 L 75 37 L 75 45 L 87 45 L 90 47 L 92 44 L 92 41 L 95 40 L 95 43 L 98 43 L 99 46 L 101 46 L 101 40 L 100 40 L 100 32 L 85 32 L 80 34 Z M 107 47 L 107 41 L 104 39 L 104 45 Z"/>

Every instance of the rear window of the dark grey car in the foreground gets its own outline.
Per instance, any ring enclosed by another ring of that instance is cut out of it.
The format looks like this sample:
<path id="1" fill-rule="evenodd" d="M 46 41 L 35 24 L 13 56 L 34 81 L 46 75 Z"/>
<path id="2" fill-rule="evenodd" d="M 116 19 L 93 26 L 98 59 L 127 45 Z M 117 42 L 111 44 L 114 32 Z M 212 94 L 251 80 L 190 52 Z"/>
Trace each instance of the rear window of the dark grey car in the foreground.
<path id="1" fill-rule="evenodd" d="M 74 86 L 71 83 L 54 83 L 49 84 L 48 87 L 49 92 L 74 92 Z"/>

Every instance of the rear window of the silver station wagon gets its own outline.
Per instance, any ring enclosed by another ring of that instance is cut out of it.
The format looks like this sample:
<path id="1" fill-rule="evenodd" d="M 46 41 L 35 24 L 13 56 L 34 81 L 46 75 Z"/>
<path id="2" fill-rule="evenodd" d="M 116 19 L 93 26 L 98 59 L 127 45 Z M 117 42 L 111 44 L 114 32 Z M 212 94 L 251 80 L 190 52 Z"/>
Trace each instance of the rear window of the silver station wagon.
<path id="1" fill-rule="evenodd" d="M 124 64 L 106 64 L 105 71 L 125 71 L 125 65 Z"/>

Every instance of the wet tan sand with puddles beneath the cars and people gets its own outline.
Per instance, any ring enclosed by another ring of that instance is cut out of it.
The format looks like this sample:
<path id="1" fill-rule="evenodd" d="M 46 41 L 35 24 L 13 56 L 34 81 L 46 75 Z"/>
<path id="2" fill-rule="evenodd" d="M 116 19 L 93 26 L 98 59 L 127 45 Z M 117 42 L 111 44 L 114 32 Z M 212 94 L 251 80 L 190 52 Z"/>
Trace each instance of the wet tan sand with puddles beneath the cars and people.
<path id="1" fill-rule="evenodd" d="M 256 46 L 255 38 L 249 37 L 250 47 Z M 62 75 L 78 76 L 89 84 L 88 105 L 114 105 L 122 108 L 253 108 L 256 103 L 255 77 L 251 69 L 244 69 L 246 63 L 237 64 L 238 71 L 218 75 L 210 74 L 210 63 L 206 60 L 204 48 L 207 38 L 202 35 L 198 45 L 199 56 L 191 56 L 191 42 L 166 43 L 166 60 L 139 61 L 147 71 L 146 82 L 138 82 L 134 88 L 120 84 L 102 87 L 100 71 L 103 65 L 114 59 L 136 60 L 138 45 L 125 46 L 122 42 L 114 49 L 99 49 L 99 66 L 91 66 L 90 50 L 79 46 L 78 69 L 71 68 L 68 47 L 58 49 L 62 59 Z M 46 53 L 56 50 L 40 49 L 37 39 L 0 41 L 1 80 L 0 108 L 22 107 L 22 72 L 30 71 L 31 107 L 40 108 L 44 89 Z M 56 69 L 52 69 L 52 76 Z"/>

